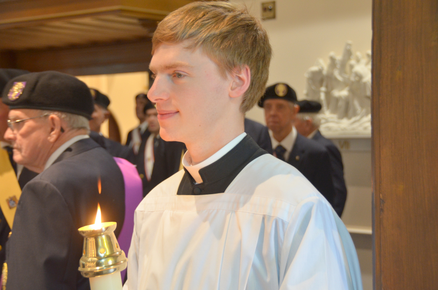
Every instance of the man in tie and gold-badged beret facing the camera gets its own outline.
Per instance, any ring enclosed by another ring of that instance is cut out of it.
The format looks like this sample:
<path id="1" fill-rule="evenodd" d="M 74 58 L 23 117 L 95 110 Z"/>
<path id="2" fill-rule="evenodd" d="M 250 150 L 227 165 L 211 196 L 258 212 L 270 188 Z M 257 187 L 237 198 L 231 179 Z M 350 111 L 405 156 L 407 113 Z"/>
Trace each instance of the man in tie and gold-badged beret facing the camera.
<path id="1" fill-rule="evenodd" d="M 259 106 L 265 111 L 274 156 L 298 169 L 333 204 L 329 153 L 324 146 L 299 134 L 293 126 L 298 107 L 296 93 L 287 84 L 268 87 Z"/>

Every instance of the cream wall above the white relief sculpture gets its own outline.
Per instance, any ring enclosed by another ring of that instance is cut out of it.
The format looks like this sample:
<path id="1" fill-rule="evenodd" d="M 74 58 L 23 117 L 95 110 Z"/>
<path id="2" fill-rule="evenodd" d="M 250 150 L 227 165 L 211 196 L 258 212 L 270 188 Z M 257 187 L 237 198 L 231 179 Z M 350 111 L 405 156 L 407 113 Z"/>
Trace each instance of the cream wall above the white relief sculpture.
<path id="1" fill-rule="evenodd" d="M 267 0 L 231 0 L 244 3 L 261 17 L 261 3 Z M 304 98 L 304 73 L 321 57 L 327 63 L 330 52 L 341 55 L 347 40 L 353 52 L 371 49 L 371 0 L 276 0 L 276 18 L 262 20 L 268 31 L 274 56 L 269 84 L 288 83 Z M 247 117 L 264 122 L 262 109 Z"/>

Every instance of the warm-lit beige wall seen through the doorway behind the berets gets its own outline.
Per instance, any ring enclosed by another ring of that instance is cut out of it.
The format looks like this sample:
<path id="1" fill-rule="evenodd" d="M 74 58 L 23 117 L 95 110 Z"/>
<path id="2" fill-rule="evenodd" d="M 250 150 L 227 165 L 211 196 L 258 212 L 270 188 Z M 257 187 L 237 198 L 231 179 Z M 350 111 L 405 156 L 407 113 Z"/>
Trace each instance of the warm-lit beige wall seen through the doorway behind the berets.
<path id="1" fill-rule="evenodd" d="M 147 72 L 88 75 L 78 76 L 78 78 L 90 88 L 108 95 L 111 100 L 108 109 L 111 110 L 119 124 L 122 144 L 125 144 L 129 130 L 139 123 L 135 116 L 134 97 L 147 90 Z M 108 136 L 108 121 L 103 124 L 101 130 L 105 136 Z"/>

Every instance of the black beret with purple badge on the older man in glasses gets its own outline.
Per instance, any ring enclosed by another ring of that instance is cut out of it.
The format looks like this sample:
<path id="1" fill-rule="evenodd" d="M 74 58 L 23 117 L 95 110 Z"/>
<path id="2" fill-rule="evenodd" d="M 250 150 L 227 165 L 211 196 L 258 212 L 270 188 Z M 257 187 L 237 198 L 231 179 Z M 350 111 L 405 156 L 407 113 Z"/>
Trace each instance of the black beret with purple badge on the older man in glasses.
<path id="1" fill-rule="evenodd" d="M 93 99 L 87 85 L 61 72 L 32 72 L 11 79 L 1 101 L 10 109 L 53 110 L 91 120 Z"/>

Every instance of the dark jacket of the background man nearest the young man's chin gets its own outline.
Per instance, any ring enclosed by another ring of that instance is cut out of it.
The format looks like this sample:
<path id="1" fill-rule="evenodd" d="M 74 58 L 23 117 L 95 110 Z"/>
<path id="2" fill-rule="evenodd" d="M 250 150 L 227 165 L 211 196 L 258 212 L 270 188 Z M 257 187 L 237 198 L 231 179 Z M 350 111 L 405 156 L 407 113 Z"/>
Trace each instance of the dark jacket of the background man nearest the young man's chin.
<path id="1" fill-rule="evenodd" d="M 145 172 L 146 141 L 147 138 L 143 140 L 142 145 L 140 145 L 136 162 L 137 171 L 143 182 L 144 197 L 155 186 L 178 172 L 181 163 L 181 155 L 183 150 L 185 150 L 185 145 L 181 142 L 167 142 L 161 138 L 156 139 L 154 142 L 154 167 L 150 180 L 148 181 Z"/>

